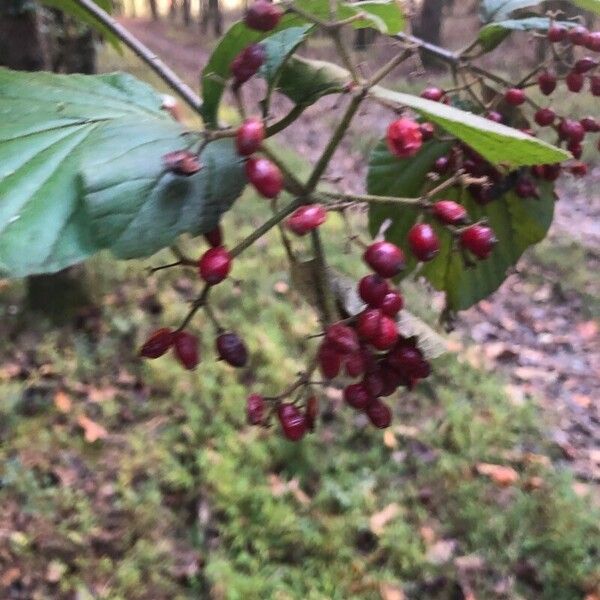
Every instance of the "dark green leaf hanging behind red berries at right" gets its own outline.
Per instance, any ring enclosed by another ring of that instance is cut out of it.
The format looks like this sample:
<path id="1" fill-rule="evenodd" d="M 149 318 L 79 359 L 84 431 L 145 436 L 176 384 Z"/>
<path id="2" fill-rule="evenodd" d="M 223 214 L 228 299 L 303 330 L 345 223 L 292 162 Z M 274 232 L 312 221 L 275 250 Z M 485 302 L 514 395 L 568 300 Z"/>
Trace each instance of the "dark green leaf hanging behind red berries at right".
<path id="1" fill-rule="evenodd" d="M 418 197 L 423 186 L 423 177 L 431 170 L 435 159 L 446 153 L 445 144 L 430 143 L 412 159 L 398 161 L 380 143 L 371 155 L 369 163 L 368 189 L 379 195 Z M 474 268 L 467 268 L 457 251 L 452 252 L 452 237 L 448 230 L 431 219 L 441 240 L 441 251 L 431 262 L 423 265 L 421 273 L 438 290 L 446 293 L 448 307 L 463 310 L 472 306 L 496 290 L 507 277 L 526 248 L 541 241 L 550 227 L 554 210 L 551 184 L 538 184 L 541 198 L 523 200 L 509 192 L 485 206 L 477 204 L 468 192 L 449 190 L 444 198 L 460 201 L 467 208 L 473 221 L 487 218 L 499 240 L 492 255 L 477 261 Z M 460 197 L 459 197 L 460 196 Z M 411 256 L 407 244 L 409 229 L 417 219 L 417 211 L 400 205 L 371 205 L 369 226 L 375 234 L 386 219 L 391 226 L 386 238 L 403 247 L 407 257 Z M 422 215 L 421 215 L 422 217 Z M 405 275 L 416 266 L 409 258 Z"/>

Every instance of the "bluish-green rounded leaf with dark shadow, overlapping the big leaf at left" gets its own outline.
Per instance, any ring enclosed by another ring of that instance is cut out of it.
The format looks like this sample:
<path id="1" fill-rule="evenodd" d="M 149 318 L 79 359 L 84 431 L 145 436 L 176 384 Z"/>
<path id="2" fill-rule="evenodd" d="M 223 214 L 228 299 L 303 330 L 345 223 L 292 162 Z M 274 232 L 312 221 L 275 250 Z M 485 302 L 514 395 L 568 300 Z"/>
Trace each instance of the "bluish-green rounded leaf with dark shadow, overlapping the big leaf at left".
<path id="1" fill-rule="evenodd" d="M 162 157 L 182 148 L 171 123 L 115 123 L 82 162 L 84 206 L 95 241 L 118 258 L 140 258 L 182 233 L 218 224 L 246 184 L 231 140 L 208 144 L 192 177 L 165 172 Z M 181 132 L 180 132 L 181 135 Z"/>

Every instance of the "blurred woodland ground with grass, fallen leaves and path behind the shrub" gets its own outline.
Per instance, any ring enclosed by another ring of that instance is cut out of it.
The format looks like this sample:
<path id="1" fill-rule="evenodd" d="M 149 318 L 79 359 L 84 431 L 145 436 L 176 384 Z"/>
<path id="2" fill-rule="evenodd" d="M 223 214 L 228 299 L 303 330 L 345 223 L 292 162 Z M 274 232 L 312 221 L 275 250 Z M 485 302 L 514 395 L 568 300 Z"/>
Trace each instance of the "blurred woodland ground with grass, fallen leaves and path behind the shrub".
<path id="1" fill-rule="evenodd" d="M 0 64 L 128 71 L 169 92 L 60 11 L 2 2 Z M 244 9 L 232 0 L 115 4 L 119 21 L 196 89 L 219 33 Z M 416 34 L 450 48 L 479 27 L 478 2 L 408 9 Z M 394 52 L 383 36 L 348 36 L 365 71 Z M 546 51 L 515 34 L 484 60 L 516 78 Z M 319 37 L 302 52 L 333 56 Z M 432 83 L 451 85 L 439 64 L 415 59 L 390 85 L 419 93 Z M 258 97 L 251 89 L 250 102 Z M 552 102 L 598 116 L 589 94 L 559 90 Z M 319 156 L 335 109 L 325 98 L 278 136 L 296 173 Z M 236 120 L 227 106 L 222 117 Z M 362 111 L 328 172 L 342 189 L 362 191 L 388 121 L 377 107 Z M 195 372 L 137 358 L 148 332 L 178 323 L 200 287 L 193 271 L 149 274 L 167 253 L 101 254 L 55 276 L 0 280 L 0 598 L 598 600 L 600 166 L 588 146 L 588 176 L 560 181 L 549 238 L 459 315 L 432 378 L 393 398 L 385 432 L 345 410 L 334 387 L 300 444 L 245 424 L 249 391 L 284 388 L 315 347 L 317 320 L 275 233 L 215 290 L 223 320 L 251 350 L 241 376 L 214 360 L 202 315 Z M 246 192 L 224 218 L 228 244 L 268 216 Z M 364 215 L 354 219 L 364 227 Z M 330 219 L 328 255 L 359 277 L 344 232 Z M 435 324 L 441 299 L 414 281 L 403 292 Z"/>

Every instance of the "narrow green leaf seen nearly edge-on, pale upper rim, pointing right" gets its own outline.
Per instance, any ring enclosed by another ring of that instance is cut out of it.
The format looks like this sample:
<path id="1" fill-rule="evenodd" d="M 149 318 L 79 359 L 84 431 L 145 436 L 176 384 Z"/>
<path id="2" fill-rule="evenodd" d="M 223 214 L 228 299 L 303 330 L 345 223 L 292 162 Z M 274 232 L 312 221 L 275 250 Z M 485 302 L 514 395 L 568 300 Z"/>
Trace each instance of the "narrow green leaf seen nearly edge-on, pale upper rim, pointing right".
<path id="1" fill-rule="evenodd" d="M 467 143 L 494 164 L 509 167 L 555 163 L 570 158 L 570 154 L 522 131 L 494 123 L 441 102 L 374 87 L 370 94 L 387 103 L 408 106 L 421 116 Z"/>

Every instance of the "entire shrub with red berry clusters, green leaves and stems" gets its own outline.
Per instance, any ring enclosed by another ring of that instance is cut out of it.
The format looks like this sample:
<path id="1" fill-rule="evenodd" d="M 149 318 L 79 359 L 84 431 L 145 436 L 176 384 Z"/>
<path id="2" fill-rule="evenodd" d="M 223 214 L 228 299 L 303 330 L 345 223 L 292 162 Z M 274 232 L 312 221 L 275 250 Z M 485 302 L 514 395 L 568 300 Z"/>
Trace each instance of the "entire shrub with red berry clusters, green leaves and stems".
<path id="1" fill-rule="evenodd" d="M 600 95 L 600 32 L 589 32 L 579 19 L 561 20 L 558 12 L 520 19 L 513 9 L 522 2 L 487 1 L 476 39 L 453 53 L 404 34 L 405 17 L 394 0 L 257 0 L 214 49 L 200 100 L 92 0 L 73 1 L 109 41 L 121 40 L 146 60 L 204 125 L 180 123 L 172 99 L 129 75 L 0 71 L 0 275 L 58 271 L 102 249 L 132 259 L 170 247 L 175 262 L 154 270 L 193 268 L 200 289 L 183 322 L 149 333 L 140 356 L 169 360 L 172 351 L 185 369 L 195 369 L 200 333 L 213 335 L 194 328 L 203 310 L 214 329 L 214 357 L 243 369 L 250 358 L 246 343 L 221 324 L 211 290 L 226 287 L 244 251 L 280 228 L 292 268 L 312 278 L 306 295 L 321 331 L 311 336 L 298 378 L 270 395 L 258 383 L 246 411 L 253 425 L 279 422 L 290 440 L 315 428 L 319 389 L 327 385 L 342 388 L 345 403 L 375 427 L 389 426 L 392 410 L 383 399 L 427 378 L 435 354 L 431 332 L 404 307 L 402 279 L 418 268 L 445 294 L 446 319 L 488 296 L 546 235 L 555 181 L 561 174 L 585 175 L 584 146 L 597 148 L 597 118 L 561 113 L 551 96 L 558 88 Z M 528 3 L 530 11 L 540 4 Z M 396 49 L 371 72 L 359 69 L 346 47 L 344 30 L 362 27 L 389 36 Z M 513 30 L 547 38 L 551 55 L 508 79 L 478 59 Z M 338 64 L 305 56 L 316 33 L 331 39 Z M 423 86 L 416 96 L 384 87 L 419 50 L 448 64 L 451 87 Z M 250 80 L 261 90 L 260 102 L 248 101 Z M 219 117 L 227 91 L 239 124 Z M 340 115 L 302 179 L 272 138 L 326 95 L 339 97 Z M 287 114 L 273 109 L 276 96 L 291 102 Z M 367 103 L 384 107 L 388 118 L 369 159 L 364 193 L 325 185 L 332 157 Z M 247 183 L 273 216 L 232 245 L 220 220 Z M 347 220 L 338 247 L 356 249 L 363 273 L 349 282 L 328 266 L 321 229 L 329 213 L 345 216 L 356 207 L 368 208 L 372 239 L 351 231 Z M 289 232 L 298 238 L 294 244 Z M 177 245 L 184 233 L 199 240 L 195 257 Z M 300 247 L 310 248 L 312 259 L 302 262 L 294 254 Z M 240 398 L 240 411 L 242 404 Z"/>

